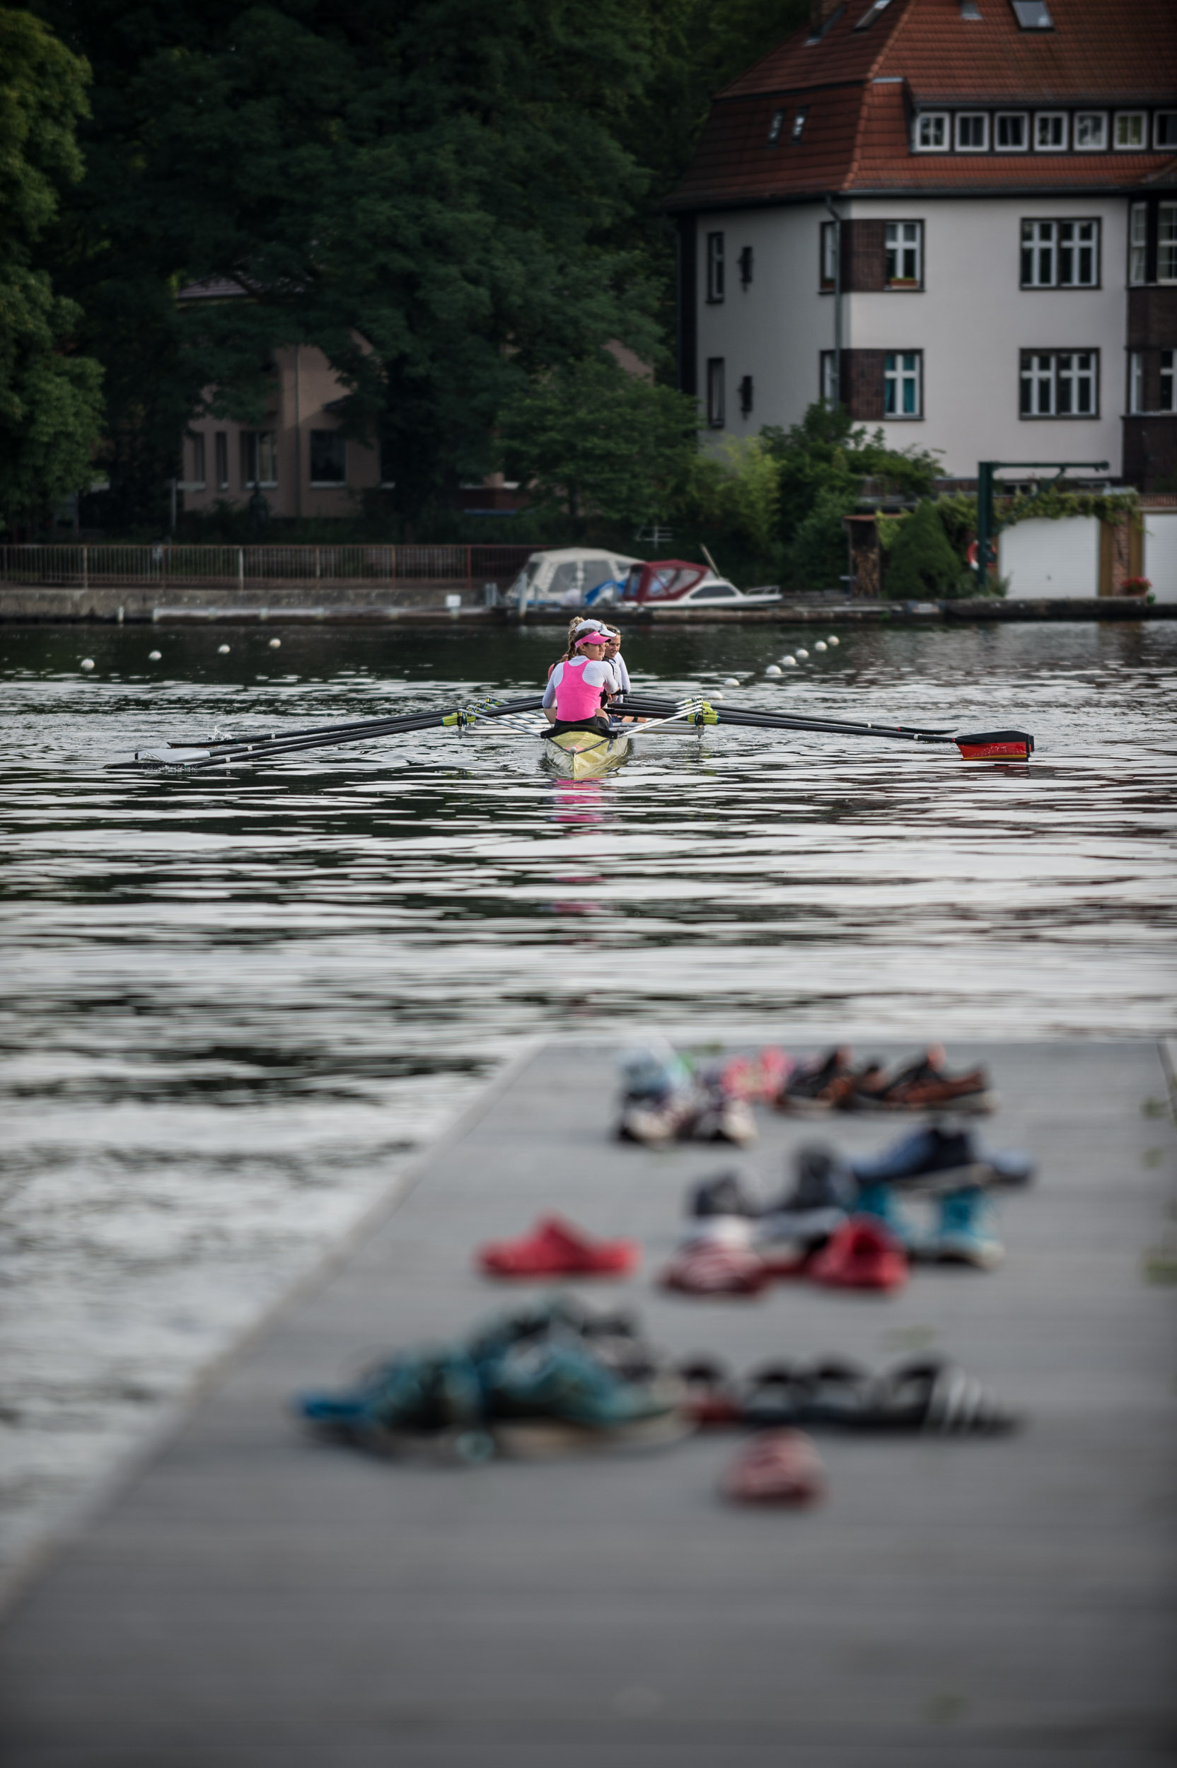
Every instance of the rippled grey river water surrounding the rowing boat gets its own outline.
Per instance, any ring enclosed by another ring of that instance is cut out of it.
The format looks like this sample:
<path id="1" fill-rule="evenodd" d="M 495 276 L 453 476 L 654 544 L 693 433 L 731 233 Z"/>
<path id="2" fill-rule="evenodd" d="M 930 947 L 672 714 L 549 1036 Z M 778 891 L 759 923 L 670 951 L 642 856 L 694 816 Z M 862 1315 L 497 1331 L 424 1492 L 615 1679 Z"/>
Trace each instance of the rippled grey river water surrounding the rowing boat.
<path id="1" fill-rule="evenodd" d="M 530 691 L 558 638 L 274 631 L 0 628 L 9 1554 L 527 1034 L 1172 1027 L 1177 624 L 841 629 L 781 681 L 818 635 L 626 645 L 663 690 L 1023 725 L 1029 769 L 719 730 L 571 785 L 484 730 L 106 771 Z"/>

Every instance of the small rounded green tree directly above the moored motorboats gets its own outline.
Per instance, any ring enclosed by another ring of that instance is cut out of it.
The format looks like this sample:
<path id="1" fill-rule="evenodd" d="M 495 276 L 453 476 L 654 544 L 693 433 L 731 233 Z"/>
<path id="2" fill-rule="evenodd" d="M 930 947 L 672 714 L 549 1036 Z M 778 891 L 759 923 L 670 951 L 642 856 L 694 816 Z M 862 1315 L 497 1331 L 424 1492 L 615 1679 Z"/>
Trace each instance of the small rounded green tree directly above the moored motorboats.
<path id="1" fill-rule="evenodd" d="M 504 407 L 500 447 L 511 477 L 541 502 L 590 516 L 664 516 L 696 446 L 695 400 L 631 375 L 608 352 L 537 377 Z"/>

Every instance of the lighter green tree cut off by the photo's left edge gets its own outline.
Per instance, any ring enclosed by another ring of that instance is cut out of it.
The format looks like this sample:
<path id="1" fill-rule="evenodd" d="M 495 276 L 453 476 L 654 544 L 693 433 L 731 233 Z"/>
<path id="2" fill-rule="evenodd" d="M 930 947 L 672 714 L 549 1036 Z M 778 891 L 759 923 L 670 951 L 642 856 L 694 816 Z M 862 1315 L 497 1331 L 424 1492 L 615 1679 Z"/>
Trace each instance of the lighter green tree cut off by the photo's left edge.
<path id="1" fill-rule="evenodd" d="M 0 11 L 0 523 L 44 514 L 90 477 L 99 364 L 71 350 L 78 308 L 39 258 L 64 186 L 87 67 L 28 12 Z"/>

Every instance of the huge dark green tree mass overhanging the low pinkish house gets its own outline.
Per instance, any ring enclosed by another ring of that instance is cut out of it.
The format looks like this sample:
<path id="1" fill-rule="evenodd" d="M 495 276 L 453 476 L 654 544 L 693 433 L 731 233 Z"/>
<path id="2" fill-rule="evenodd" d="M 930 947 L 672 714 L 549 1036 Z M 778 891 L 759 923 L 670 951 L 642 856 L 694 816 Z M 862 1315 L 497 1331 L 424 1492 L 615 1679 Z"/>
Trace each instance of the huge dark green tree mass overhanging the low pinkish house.
<path id="1" fill-rule="evenodd" d="M 657 354 L 652 278 L 615 239 L 647 200 L 617 127 L 650 76 L 652 5 L 41 11 L 95 71 L 62 258 L 97 352 L 120 364 L 127 511 L 150 504 L 201 400 L 262 414 L 283 345 L 325 352 L 346 430 L 383 431 L 410 509 L 488 467 L 516 385 L 608 338 Z M 177 306 L 214 278 L 242 297 Z"/>

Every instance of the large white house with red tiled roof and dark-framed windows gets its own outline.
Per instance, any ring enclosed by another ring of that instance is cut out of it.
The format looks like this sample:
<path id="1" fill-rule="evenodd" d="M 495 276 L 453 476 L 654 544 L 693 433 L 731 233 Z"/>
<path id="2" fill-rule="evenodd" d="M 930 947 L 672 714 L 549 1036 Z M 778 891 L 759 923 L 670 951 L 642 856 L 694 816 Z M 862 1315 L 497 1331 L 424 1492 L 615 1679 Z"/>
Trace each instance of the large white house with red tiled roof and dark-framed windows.
<path id="1" fill-rule="evenodd" d="M 815 0 L 672 198 L 716 431 L 818 396 L 898 447 L 1177 470 L 1168 0 Z"/>

